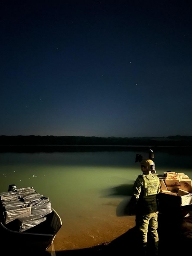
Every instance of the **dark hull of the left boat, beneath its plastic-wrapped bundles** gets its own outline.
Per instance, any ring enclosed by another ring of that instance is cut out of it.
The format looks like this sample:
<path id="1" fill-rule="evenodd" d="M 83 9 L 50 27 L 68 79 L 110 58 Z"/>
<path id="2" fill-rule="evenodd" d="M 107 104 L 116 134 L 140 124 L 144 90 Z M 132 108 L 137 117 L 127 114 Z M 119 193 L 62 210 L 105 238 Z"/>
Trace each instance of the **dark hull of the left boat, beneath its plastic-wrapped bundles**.
<path id="1" fill-rule="evenodd" d="M 8 243 L 11 245 L 11 249 L 14 250 L 14 252 L 20 254 L 46 251 L 52 245 L 57 232 L 62 227 L 61 218 L 53 208 L 51 208 L 51 212 L 46 215 L 45 221 L 23 232 L 16 231 L 17 219 L 5 224 L 2 213 L 1 211 L 1 244 Z M 9 250 L 10 246 L 7 249 Z"/>

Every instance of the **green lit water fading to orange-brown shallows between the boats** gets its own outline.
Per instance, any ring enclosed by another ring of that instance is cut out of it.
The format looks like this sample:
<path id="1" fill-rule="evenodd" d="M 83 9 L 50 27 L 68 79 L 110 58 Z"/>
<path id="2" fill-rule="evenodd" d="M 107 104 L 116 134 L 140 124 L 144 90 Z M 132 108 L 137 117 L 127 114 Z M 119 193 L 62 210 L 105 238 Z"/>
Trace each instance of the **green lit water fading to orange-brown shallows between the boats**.
<path id="1" fill-rule="evenodd" d="M 155 164 L 158 173 L 172 170 L 192 177 L 190 155 L 157 152 Z M 49 197 L 60 215 L 56 250 L 111 241 L 134 226 L 134 216 L 124 210 L 140 173 L 135 151 L 0 154 L 0 192 L 9 184 L 32 186 Z"/>

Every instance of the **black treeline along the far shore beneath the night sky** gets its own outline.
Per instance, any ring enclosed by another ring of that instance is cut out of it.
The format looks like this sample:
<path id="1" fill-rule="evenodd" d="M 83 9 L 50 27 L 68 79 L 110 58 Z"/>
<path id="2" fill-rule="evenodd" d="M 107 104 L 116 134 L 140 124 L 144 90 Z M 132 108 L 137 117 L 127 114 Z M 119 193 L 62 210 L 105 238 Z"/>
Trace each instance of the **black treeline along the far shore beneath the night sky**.
<path id="1" fill-rule="evenodd" d="M 86 136 L 0 136 L 0 145 L 122 145 L 192 146 L 192 136 L 86 137 Z"/>

